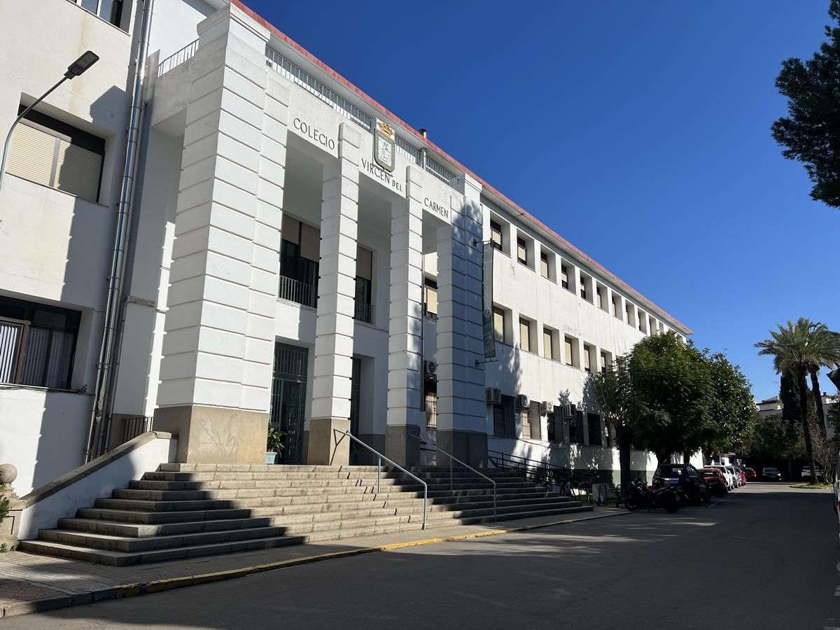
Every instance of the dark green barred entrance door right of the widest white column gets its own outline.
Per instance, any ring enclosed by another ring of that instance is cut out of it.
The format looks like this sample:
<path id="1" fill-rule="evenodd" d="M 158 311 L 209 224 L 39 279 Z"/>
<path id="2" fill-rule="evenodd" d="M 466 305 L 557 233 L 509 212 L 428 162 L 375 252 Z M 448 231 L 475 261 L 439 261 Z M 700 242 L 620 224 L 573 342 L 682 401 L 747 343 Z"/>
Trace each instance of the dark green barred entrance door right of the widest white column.
<path id="1" fill-rule="evenodd" d="M 303 419 L 306 414 L 309 351 L 290 344 L 274 346 L 270 423 L 283 431 L 283 464 L 303 463 Z"/>

